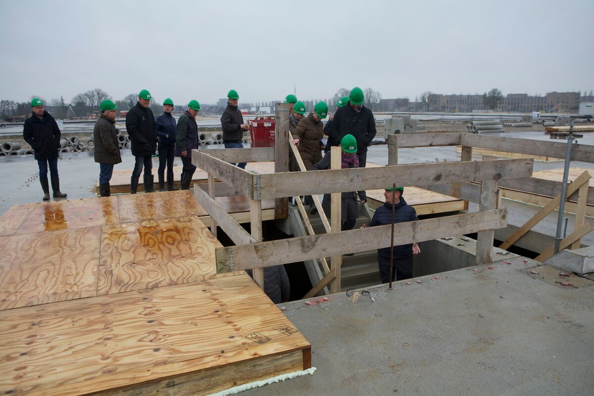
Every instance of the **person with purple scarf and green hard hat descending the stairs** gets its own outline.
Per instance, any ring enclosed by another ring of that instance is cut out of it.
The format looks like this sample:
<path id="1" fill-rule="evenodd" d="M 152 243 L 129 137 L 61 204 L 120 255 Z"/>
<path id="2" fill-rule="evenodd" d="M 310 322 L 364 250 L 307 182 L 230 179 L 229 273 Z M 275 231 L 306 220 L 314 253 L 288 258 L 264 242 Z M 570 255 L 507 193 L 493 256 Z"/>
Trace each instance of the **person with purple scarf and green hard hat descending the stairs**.
<path id="1" fill-rule="evenodd" d="M 342 147 L 342 169 L 359 167 L 359 159 L 356 156 L 357 141 L 355 137 L 353 137 L 353 135 L 346 135 L 340 141 L 340 146 Z M 314 164 L 312 170 L 330 169 L 330 160 L 331 154 L 328 153 L 320 162 Z M 357 194 L 359 195 L 361 202 L 365 203 L 367 201 L 365 191 L 343 192 L 341 195 L 341 229 L 343 231 L 352 230 L 353 227 L 355 227 L 357 218 L 359 217 L 359 205 L 357 202 Z M 324 213 L 326 213 L 326 216 L 330 217 L 330 194 L 324 194 L 322 208 L 324 209 Z"/>

